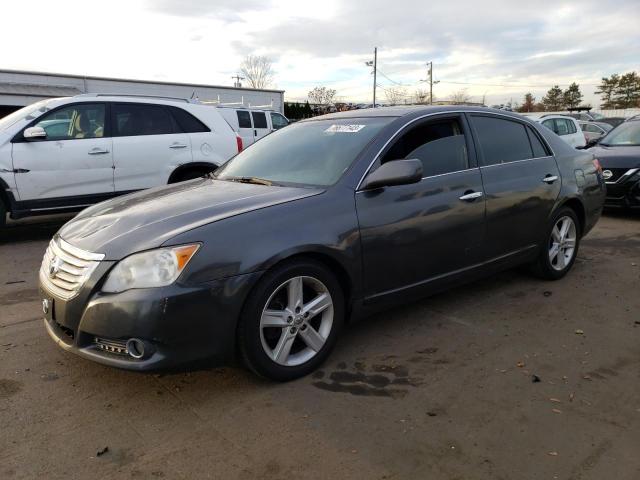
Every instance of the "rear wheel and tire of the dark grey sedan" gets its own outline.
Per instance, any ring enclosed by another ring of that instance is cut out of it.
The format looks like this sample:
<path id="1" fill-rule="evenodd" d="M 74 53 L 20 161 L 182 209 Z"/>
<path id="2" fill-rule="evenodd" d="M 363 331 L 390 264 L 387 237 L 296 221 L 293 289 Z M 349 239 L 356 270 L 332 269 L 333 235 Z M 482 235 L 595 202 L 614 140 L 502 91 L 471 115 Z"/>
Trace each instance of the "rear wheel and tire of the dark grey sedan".
<path id="1" fill-rule="evenodd" d="M 566 231 L 563 231 L 566 228 Z M 547 229 L 533 272 L 546 280 L 564 277 L 576 260 L 580 247 L 580 221 L 573 209 L 563 207 L 556 212 Z"/>

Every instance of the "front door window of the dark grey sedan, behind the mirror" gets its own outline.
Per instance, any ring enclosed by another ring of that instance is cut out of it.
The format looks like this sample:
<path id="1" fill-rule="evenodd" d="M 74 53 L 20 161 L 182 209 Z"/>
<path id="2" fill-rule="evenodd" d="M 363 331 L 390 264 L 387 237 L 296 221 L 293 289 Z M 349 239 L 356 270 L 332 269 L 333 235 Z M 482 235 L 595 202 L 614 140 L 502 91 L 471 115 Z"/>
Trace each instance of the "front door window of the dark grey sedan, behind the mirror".
<path id="1" fill-rule="evenodd" d="M 431 177 L 469 168 L 467 144 L 457 118 L 422 122 L 398 138 L 381 163 L 418 159 L 422 176 Z"/>

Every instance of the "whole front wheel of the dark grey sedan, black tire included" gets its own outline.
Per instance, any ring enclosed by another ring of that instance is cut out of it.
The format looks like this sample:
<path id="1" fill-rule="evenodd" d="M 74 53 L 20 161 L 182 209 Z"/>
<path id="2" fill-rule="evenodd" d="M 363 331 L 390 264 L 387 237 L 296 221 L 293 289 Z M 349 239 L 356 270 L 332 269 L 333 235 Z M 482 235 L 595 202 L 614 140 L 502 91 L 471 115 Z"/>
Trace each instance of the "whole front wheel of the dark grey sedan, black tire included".
<path id="1" fill-rule="evenodd" d="M 238 325 L 242 360 L 271 380 L 303 377 L 331 353 L 344 315 L 342 288 L 323 264 L 300 259 L 276 266 L 243 308 Z"/>

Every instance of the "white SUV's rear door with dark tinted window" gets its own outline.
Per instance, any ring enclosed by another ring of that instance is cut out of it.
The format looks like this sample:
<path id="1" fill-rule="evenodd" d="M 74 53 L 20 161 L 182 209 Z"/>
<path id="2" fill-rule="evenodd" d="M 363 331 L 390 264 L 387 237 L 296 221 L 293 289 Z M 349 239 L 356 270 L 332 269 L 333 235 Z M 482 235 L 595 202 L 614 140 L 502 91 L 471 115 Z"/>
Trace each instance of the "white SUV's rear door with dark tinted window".
<path id="1" fill-rule="evenodd" d="M 114 183 L 129 192 L 167 183 L 179 165 L 191 162 L 191 140 L 165 105 L 113 103 Z"/>

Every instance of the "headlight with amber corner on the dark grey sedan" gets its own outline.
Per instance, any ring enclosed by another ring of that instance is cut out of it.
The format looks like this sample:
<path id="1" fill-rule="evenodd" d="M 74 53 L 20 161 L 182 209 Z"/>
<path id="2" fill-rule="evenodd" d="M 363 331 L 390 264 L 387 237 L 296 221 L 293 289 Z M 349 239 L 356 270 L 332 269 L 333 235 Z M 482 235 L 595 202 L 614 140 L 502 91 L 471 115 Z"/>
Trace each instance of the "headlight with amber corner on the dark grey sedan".
<path id="1" fill-rule="evenodd" d="M 135 253 L 121 260 L 111 270 L 103 292 L 117 293 L 131 288 L 171 285 L 187 266 L 199 244 L 158 248 Z"/>

